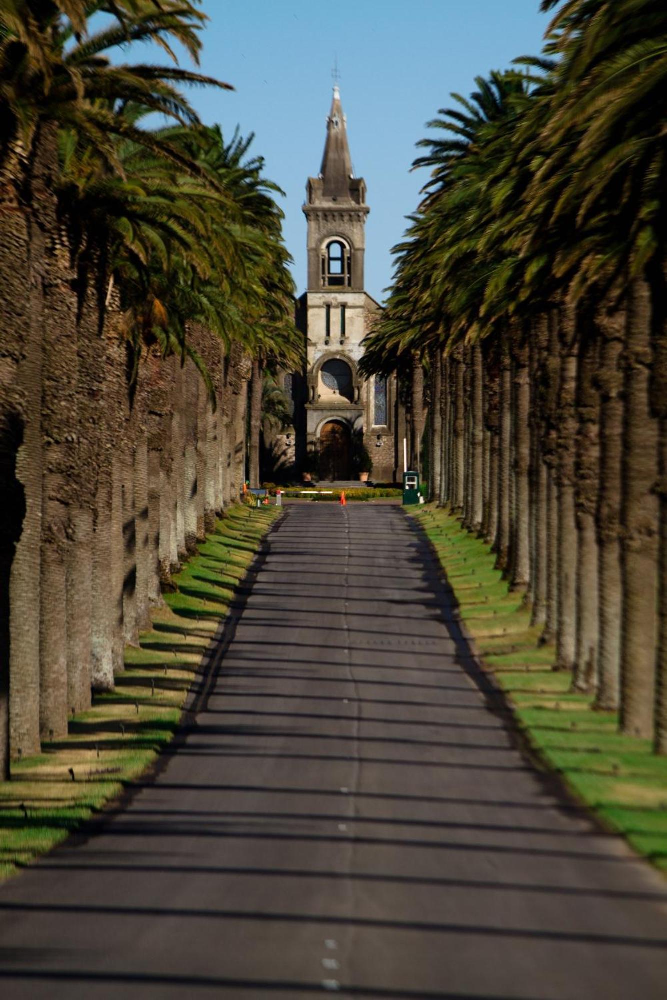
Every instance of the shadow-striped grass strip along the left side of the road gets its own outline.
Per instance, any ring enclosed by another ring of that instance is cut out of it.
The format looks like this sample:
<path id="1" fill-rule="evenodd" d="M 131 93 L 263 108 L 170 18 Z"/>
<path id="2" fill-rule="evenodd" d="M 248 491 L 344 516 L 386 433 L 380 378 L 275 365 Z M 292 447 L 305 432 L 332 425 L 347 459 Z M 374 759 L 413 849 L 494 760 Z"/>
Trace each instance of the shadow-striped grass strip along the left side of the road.
<path id="1" fill-rule="evenodd" d="M 62 740 L 13 761 L 0 783 L 0 880 L 30 864 L 156 760 L 178 728 L 201 656 L 280 511 L 232 507 L 173 578 L 139 646 L 125 649 L 115 690 L 74 715 Z M 73 778 L 72 778 L 73 775 Z"/>

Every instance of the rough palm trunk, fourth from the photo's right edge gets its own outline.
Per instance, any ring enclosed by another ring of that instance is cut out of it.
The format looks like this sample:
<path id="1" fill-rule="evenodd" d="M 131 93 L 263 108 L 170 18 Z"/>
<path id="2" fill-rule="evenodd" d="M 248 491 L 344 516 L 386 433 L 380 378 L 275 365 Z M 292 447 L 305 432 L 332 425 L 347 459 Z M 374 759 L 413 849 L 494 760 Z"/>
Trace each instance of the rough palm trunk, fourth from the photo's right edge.
<path id="1" fill-rule="evenodd" d="M 581 337 L 578 366 L 576 493 L 577 650 L 573 687 L 595 692 L 598 682 L 598 544 L 595 516 L 600 482 L 600 400 L 595 384 L 599 341 L 590 322 Z"/>

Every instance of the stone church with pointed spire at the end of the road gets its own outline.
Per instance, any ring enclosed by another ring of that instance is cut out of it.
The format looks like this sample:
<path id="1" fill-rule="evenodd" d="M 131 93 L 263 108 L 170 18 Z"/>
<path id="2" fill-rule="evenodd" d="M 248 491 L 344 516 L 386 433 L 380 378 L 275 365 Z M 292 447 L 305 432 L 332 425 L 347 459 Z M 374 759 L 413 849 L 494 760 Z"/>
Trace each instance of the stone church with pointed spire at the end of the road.
<path id="1" fill-rule="evenodd" d="M 294 415 L 297 470 L 320 480 L 357 479 L 364 444 L 373 461 L 371 480 L 394 482 L 402 424 L 395 378 L 365 380 L 359 372 L 363 341 L 382 313 L 364 288 L 366 183 L 355 177 L 347 122 L 338 86 L 326 119 L 319 173 L 309 177 L 303 214 L 307 223 L 307 288 L 296 304 L 296 324 L 306 345 L 304 372 L 286 376 Z"/>

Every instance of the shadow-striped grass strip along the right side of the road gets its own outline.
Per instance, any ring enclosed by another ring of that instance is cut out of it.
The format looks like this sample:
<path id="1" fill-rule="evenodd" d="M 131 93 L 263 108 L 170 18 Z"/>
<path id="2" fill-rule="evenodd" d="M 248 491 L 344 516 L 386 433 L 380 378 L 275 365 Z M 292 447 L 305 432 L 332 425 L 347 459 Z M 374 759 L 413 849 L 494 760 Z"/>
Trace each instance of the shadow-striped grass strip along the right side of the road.
<path id="1" fill-rule="evenodd" d="M 489 545 L 446 510 L 414 515 L 433 544 L 484 666 L 507 694 L 519 727 L 542 760 L 607 827 L 667 871 L 667 758 L 648 740 L 621 734 L 618 713 L 593 709 L 556 671 L 553 646 L 538 646 L 523 594 L 494 569 Z"/>

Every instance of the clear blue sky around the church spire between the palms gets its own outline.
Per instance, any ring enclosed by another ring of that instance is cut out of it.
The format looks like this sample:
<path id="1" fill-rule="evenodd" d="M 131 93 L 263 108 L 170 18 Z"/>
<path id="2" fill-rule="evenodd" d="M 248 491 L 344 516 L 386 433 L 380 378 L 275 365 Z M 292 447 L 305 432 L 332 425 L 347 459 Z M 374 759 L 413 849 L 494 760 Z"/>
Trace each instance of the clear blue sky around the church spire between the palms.
<path id="1" fill-rule="evenodd" d="M 235 91 L 194 91 L 208 123 L 255 133 L 253 150 L 285 192 L 284 235 L 298 293 L 305 283 L 305 180 L 316 175 L 338 56 L 341 96 L 358 176 L 366 179 L 366 285 L 391 281 L 391 248 L 417 206 L 415 143 L 450 93 L 541 49 L 539 0 L 204 0 L 202 71 Z M 139 56 L 139 53 L 136 53 Z M 139 58 L 141 58 L 139 56 Z"/>

